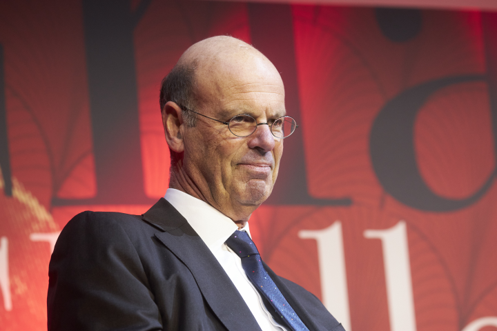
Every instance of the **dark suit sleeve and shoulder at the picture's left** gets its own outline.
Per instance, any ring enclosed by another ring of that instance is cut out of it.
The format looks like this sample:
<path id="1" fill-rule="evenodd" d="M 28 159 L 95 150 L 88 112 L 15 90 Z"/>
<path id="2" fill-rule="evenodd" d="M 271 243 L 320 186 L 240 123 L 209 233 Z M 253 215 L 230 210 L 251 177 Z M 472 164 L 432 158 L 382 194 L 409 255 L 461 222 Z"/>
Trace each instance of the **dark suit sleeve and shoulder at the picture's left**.
<path id="1" fill-rule="evenodd" d="M 49 267 L 49 331 L 162 330 L 146 273 L 116 215 L 83 212 L 61 232 Z"/>

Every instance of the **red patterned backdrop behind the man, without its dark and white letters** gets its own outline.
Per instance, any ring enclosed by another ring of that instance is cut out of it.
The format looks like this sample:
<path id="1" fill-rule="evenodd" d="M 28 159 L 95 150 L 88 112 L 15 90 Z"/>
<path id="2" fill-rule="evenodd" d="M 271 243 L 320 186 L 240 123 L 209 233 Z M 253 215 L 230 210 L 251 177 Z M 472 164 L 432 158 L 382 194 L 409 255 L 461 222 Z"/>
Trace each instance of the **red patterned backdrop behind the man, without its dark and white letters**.
<path id="1" fill-rule="evenodd" d="M 146 2 L 131 1 L 129 12 Z M 306 192 L 291 193 L 310 199 L 268 201 L 253 214 L 251 229 L 262 257 L 275 272 L 321 297 L 316 243 L 300 239 L 298 232 L 340 220 L 352 328 L 390 330 L 381 243 L 363 232 L 405 220 L 417 330 L 462 330 L 474 319 L 497 316 L 497 187 L 492 182 L 497 132 L 489 68 L 497 58 L 488 52 L 497 34 L 485 25 L 491 15 L 420 10 L 420 30 L 406 41 L 393 41 L 380 28 L 375 8 L 150 1 L 133 28 L 142 165 L 133 173 L 145 198 L 119 203 L 95 198 L 100 188 L 94 150 L 101 141 L 92 135 L 81 1 L 2 1 L 6 112 L 0 121 L 7 126 L 8 149 L 2 148 L 13 193 L 0 194 L 0 237 L 8 238 L 12 293 L 11 311 L 0 304 L 1 330 L 46 328 L 50 248 L 30 241 L 31 233 L 57 232 L 83 210 L 142 214 L 164 195 L 169 153 L 158 106 L 162 77 L 188 46 L 206 37 L 230 34 L 259 48 L 253 13 L 265 12 L 264 6 L 290 15 L 290 28 L 278 33 L 293 45 L 289 58 L 295 59 L 296 81 L 286 80 L 288 70 L 282 77 L 290 89 L 296 87 L 287 107 L 291 115 L 300 114 L 301 136 L 295 141 L 301 141 L 302 153 L 285 148 L 282 167 L 300 159 L 305 170 L 300 177 L 289 171 L 277 185 L 304 181 Z M 272 47 L 277 54 L 280 45 Z M 271 50 L 266 54 L 277 67 L 286 61 L 271 58 Z M 378 179 L 371 161 L 373 123 L 403 91 L 462 74 L 490 78 L 431 94 L 413 123 L 416 162 L 428 188 L 445 199 L 470 197 L 487 181 L 490 186 L 461 208 L 414 208 Z M 351 203 L 312 202 L 342 198 Z M 287 262 L 289 252 L 296 262 Z"/>

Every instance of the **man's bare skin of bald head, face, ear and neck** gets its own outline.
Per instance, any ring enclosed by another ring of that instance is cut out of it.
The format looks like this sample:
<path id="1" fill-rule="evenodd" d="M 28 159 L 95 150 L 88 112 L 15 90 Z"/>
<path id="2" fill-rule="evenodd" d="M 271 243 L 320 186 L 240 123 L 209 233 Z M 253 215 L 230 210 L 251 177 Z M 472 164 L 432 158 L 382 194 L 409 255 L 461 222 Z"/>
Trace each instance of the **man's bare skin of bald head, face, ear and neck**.
<path id="1" fill-rule="evenodd" d="M 280 74 L 263 54 L 231 37 L 196 43 L 179 59 L 197 61 L 196 112 L 228 121 L 250 114 L 266 123 L 285 114 Z M 170 188 L 191 194 L 230 217 L 242 228 L 264 202 L 276 181 L 282 139 L 269 126 L 249 137 L 236 137 L 223 123 L 197 115 L 188 128 L 182 110 L 169 101 L 162 110 L 166 140 L 181 159 L 171 170 Z"/>

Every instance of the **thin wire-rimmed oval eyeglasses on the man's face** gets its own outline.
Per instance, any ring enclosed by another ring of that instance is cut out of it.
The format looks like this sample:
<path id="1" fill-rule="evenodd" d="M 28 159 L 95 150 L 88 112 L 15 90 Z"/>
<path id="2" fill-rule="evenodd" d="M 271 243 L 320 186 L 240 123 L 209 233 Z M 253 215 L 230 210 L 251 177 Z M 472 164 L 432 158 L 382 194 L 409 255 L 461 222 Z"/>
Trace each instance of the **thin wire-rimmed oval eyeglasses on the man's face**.
<path id="1" fill-rule="evenodd" d="M 186 107 L 182 107 L 184 110 L 188 110 L 189 112 L 195 112 L 195 110 L 188 109 Z M 220 121 L 219 119 L 213 119 L 212 117 L 208 117 L 204 114 L 200 114 L 199 112 L 195 112 L 195 114 L 199 114 L 200 116 L 206 117 L 208 119 L 212 119 L 214 121 L 223 123 L 225 126 L 228 126 L 228 129 L 231 133 L 235 134 L 237 137 L 247 137 L 253 134 L 255 130 L 257 130 L 257 126 L 262 126 L 266 124 L 271 129 L 271 133 L 276 138 L 286 138 L 289 137 L 295 129 L 298 128 L 297 122 L 293 117 L 282 116 L 278 119 L 275 119 L 272 124 L 269 123 L 257 123 L 253 117 L 247 114 L 240 114 L 231 117 L 231 119 L 227 122 Z"/>

